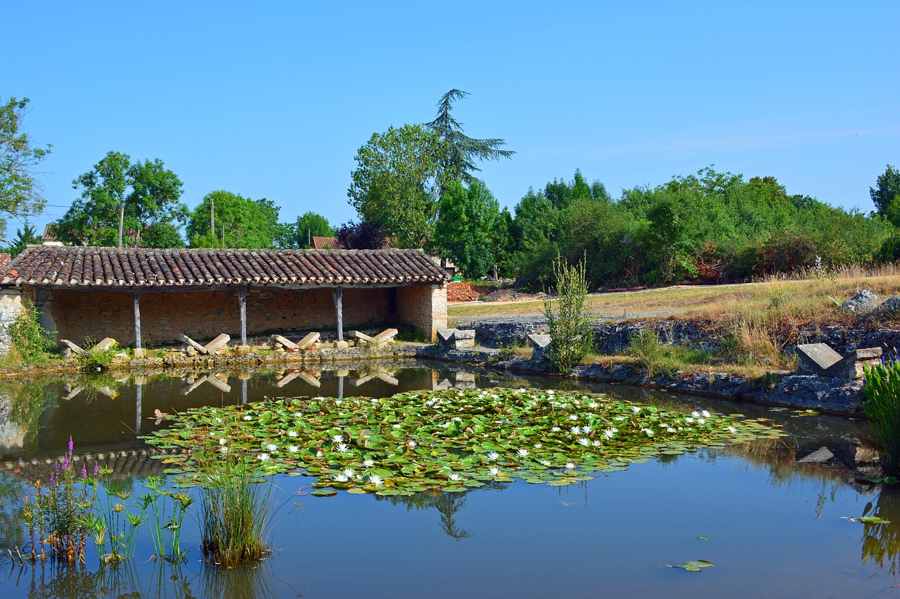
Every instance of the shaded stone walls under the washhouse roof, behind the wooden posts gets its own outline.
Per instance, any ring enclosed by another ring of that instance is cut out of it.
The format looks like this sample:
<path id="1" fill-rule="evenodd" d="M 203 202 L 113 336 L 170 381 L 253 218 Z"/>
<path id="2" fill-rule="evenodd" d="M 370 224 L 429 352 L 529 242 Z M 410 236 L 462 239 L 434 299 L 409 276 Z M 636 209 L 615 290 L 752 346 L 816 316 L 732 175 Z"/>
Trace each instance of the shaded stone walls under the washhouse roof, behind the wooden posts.
<path id="1" fill-rule="evenodd" d="M 400 288 L 344 288 L 345 330 L 352 327 L 402 326 L 424 334 L 446 326 L 446 291 L 443 286 Z M 40 291 L 44 319 L 52 323 L 57 338 L 78 343 L 85 337 L 106 336 L 122 345 L 134 344 L 132 294 L 121 291 Z M 443 320 L 432 326 L 430 318 Z M 247 333 L 325 330 L 335 327 L 331 289 L 281 291 L 247 290 Z M 240 334 L 238 291 L 142 291 L 140 324 L 144 344 L 175 342 L 178 335 L 209 339 L 220 333 Z"/>

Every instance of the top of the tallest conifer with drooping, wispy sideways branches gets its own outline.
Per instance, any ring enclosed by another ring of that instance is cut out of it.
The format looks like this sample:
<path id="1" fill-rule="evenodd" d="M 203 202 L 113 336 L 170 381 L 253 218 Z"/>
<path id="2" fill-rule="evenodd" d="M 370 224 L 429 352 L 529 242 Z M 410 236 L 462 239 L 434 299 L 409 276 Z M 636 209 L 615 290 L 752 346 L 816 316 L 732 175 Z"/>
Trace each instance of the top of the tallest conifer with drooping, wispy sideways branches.
<path id="1" fill-rule="evenodd" d="M 428 123 L 428 129 L 437 133 L 444 141 L 444 152 L 440 158 L 441 192 L 447 185 L 456 180 L 473 183 L 473 171 L 480 171 L 475 163 L 481 160 L 500 160 L 511 158 L 513 150 L 502 149 L 506 145 L 503 139 L 474 139 L 463 132 L 464 123 L 456 121 L 453 114 L 453 103 L 467 97 L 468 92 L 452 89 L 437 103 L 437 116 Z"/>

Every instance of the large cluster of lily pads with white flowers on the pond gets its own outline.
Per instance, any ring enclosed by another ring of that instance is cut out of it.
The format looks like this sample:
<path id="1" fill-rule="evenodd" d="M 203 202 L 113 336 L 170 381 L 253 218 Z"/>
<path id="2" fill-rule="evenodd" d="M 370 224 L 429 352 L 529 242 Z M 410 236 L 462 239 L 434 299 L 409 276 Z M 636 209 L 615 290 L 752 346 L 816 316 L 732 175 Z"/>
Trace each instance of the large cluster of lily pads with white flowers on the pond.
<path id="1" fill-rule="evenodd" d="M 316 477 L 315 495 L 464 491 L 487 481 L 569 485 L 661 454 L 783 433 L 761 420 L 665 411 L 542 389 L 410 391 L 391 398 L 282 398 L 194 408 L 146 437 L 171 472 L 218 451 L 266 473 Z"/>

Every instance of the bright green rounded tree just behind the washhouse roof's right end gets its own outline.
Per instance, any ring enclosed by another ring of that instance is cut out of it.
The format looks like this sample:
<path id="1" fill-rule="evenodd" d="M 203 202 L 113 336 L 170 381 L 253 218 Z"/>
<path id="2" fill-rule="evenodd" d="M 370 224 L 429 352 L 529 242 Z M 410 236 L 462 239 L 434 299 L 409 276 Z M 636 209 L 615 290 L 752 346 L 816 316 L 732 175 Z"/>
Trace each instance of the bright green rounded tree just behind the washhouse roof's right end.
<path id="1" fill-rule="evenodd" d="M 500 204 L 481 181 L 450 183 L 440 201 L 434 245 L 467 277 L 480 278 L 496 261 L 493 232 Z"/>

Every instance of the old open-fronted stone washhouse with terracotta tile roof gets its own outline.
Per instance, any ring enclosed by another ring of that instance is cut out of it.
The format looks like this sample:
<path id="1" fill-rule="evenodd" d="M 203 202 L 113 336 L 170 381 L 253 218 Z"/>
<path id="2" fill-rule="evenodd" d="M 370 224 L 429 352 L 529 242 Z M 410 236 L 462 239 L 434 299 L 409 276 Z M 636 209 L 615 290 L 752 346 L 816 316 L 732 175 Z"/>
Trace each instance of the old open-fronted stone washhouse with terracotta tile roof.
<path id="1" fill-rule="evenodd" d="M 0 268 L 0 352 L 29 302 L 56 339 L 139 348 L 337 330 L 446 327 L 446 271 L 421 250 L 29 246 Z"/>

